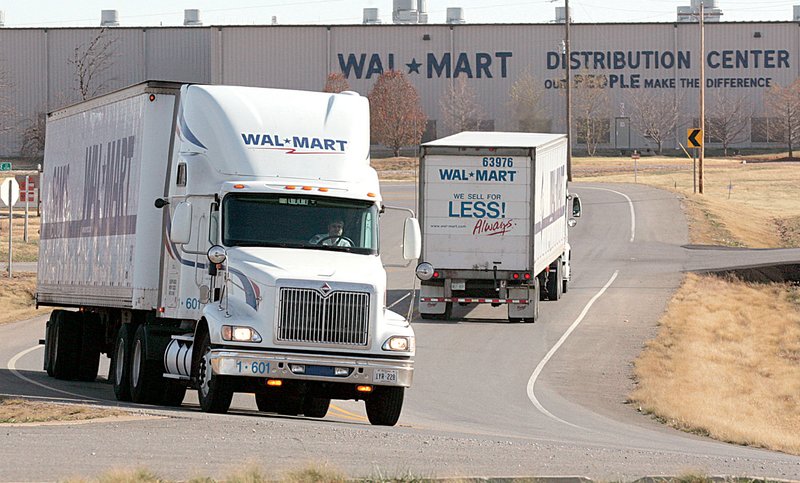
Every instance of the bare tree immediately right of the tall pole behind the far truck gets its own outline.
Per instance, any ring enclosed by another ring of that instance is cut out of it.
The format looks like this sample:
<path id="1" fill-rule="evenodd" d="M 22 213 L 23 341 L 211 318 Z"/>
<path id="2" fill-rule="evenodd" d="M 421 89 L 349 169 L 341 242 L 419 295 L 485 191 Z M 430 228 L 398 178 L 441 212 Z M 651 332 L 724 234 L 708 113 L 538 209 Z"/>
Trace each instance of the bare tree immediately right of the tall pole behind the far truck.
<path id="1" fill-rule="evenodd" d="M 589 156 L 595 155 L 598 144 L 609 142 L 611 132 L 611 101 L 603 79 L 602 76 L 584 76 L 573 89 L 575 134 L 577 141 L 586 145 Z"/>

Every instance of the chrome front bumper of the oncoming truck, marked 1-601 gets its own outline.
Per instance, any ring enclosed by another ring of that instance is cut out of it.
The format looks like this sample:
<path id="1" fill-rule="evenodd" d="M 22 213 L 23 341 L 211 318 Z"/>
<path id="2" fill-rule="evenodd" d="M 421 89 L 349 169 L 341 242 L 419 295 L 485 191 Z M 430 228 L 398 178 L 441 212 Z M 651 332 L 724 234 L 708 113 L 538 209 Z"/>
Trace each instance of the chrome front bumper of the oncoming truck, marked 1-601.
<path id="1" fill-rule="evenodd" d="M 215 375 L 265 377 L 343 384 L 409 387 L 414 376 L 411 359 L 288 354 L 248 350 L 212 349 Z M 303 372 L 293 371 L 303 367 Z M 336 370 L 339 375 L 336 375 Z M 346 372 L 346 374 L 344 374 Z"/>

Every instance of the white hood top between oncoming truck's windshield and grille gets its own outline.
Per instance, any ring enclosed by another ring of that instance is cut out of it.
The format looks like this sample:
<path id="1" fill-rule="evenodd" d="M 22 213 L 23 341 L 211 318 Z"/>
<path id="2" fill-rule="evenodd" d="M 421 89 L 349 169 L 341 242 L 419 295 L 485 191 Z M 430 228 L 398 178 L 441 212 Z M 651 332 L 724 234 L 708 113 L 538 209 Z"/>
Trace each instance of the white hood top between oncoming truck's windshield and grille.
<path id="1" fill-rule="evenodd" d="M 267 287 L 281 279 L 367 284 L 378 290 L 386 283 L 377 255 L 332 250 L 234 247 L 228 249 L 228 268 L 234 277 Z"/>

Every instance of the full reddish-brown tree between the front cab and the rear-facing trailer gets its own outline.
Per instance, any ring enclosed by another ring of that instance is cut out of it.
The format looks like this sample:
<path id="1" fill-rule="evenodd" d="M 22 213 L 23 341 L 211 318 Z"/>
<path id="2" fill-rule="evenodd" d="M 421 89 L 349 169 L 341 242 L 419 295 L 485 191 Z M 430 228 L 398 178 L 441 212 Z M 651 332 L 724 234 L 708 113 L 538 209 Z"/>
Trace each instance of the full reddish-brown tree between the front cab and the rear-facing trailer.
<path id="1" fill-rule="evenodd" d="M 417 90 L 402 72 L 381 74 L 367 97 L 373 141 L 392 148 L 395 156 L 401 147 L 419 144 L 428 118 Z"/>

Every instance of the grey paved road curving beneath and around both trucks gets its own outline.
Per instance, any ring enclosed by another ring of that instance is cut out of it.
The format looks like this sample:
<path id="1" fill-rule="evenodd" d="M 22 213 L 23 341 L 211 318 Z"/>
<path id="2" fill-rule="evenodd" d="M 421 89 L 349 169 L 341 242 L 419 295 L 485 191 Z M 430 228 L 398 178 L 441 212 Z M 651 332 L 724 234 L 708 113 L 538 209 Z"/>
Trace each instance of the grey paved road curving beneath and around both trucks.
<path id="1" fill-rule="evenodd" d="M 0 480 L 52 480 L 146 466 L 169 478 L 224 476 L 242 462 L 273 475 L 319 462 L 352 475 L 751 475 L 799 479 L 800 457 L 677 432 L 624 403 L 630 362 L 655 334 L 681 272 L 800 260 L 800 250 L 686 248 L 674 195 L 639 185 L 574 184 L 585 216 L 571 232 L 575 280 L 536 324 L 510 325 L 502 308 L 459 307 L 458 320 L 415 320 L 414 386 L 395 428 L 369 426 L 363 405 L 340 402 L 323 421 L 264 416 L 237 397 L 233 414 L 184 407 L 137 410 L 136 422 L 0 427 Z M 413 206 L 410 185 L 384 187 Z M 398 218 L 399 219 L 399 215 Z M 387 259 L 400 227 L 386 220 Z M 412 287 L 413 267 L 389 272 L 390 303 Z M 396 307 L 403 307 L 409 299 Z M 41 372 L 43 318 L 0 326 L 0 393 L 116 405 L 110 387 Z M 9 368 L 16 368 L 17 373 Z M 61 391 L 61 392 L 58 392 Z M 10 463 L 13 461 L 14 463 Z"/>

